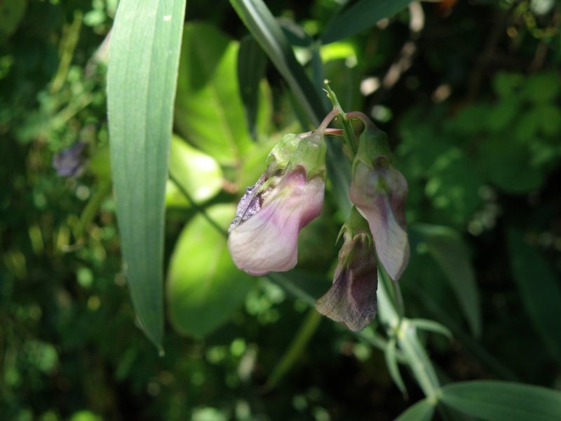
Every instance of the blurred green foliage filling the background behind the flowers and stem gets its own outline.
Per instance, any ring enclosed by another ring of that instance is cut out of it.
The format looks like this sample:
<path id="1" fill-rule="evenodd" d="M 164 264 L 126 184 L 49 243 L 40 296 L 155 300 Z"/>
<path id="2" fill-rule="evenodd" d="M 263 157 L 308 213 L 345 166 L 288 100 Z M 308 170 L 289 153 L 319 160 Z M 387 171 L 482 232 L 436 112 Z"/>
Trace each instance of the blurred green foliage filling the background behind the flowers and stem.
<path id="1" fill-rule="evenodd" d="M 343 107 L 370 114 L 395 145 L 410 184 L 412 259 L 400 285 L 408 316 L 439 321 L 454 335 L 452 342 L 421 335 L 442 382 L 492 378 L 558 389 L 560 5 L 427 2 L 421 15 L 405 9 L 322 46 L 314 37 L 339 2 L 269 3 L 311 78 L 330 79 Z M 398 417 L 423 396 L 405 372 L 410 400 L 403 400 L 384 355 L 366 338 L 376 326 L 358 339 L 321 321 L 292 369 L 268 382 L 308 307 L 267 279 L 242 279 L 199 207 L 226 227 L 224 209 L 255 182 L 279 136 L 308 128 L 299 126 L 302 110 L 271 65 L 261 70 L 257 116 L 243 114 L 248 97 L 238 92 L 236 72 L 247 29 L 227 1 L 187 4 L 182 60 L 189 54 L 201 67 L 180 68 L 175 130 L 184 139 L 174 140 L 170 171 L 186 185 L 168 183 L 164 357 L 135 326 L 107 152 L 104 39 L 116 7 L 116 0 L 0 4 L 0 417 Z M 419 16 L 420 29 L 412 23 Z M 189 39 L 194 31 L 206 35 Z M 214 79 L 201 60 L 218 66 Z M 209 123 L 212 133 L 201 133 L 194 99 L 204 103 L 198 112 L 227 110 L 231 123 Z M 87 145 L 81 174 L 61 178 L 53 155 L 77 141 Z M 189 172 L 194 161 L 208 164 L 203 180 Z M 195 206 L 177 199 L 182 189 Z M 328 195 L 323 215 L 302 232 L 305 272 L 291 276 L 314 298 L 329 286 L 323 279 L 334 270 L 342 220 Z M 215 278 L 210 269 L 224 274 Z M 211 286 L 219 289 L 210 289 L 217 300 L 182 297 L 203 279 L 217 281 Z"/>

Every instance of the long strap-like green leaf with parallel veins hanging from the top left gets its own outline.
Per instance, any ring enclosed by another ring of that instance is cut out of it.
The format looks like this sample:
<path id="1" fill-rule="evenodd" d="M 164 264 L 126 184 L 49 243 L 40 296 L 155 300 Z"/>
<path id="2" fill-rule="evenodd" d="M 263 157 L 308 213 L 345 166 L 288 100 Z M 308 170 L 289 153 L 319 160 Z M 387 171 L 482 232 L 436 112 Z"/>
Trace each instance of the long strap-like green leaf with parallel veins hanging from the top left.
<path id="1" fill-rule="evenodd" d="M 121 0 L 107 74 L 111 171 L 123 267 L 162 351 L 165 180 L 185 0 Z"/>

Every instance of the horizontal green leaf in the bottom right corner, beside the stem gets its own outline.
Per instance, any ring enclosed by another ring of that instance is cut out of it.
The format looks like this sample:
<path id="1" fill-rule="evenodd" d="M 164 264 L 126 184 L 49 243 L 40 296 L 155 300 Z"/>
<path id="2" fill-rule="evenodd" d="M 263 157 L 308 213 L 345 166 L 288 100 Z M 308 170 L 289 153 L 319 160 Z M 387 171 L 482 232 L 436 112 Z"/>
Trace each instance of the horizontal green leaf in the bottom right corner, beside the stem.
<path id="1" fill-rule="evenodd" d="M 486 421 L 558 421 L 561 414 L 561 392 L 514 382 L 452 383 L 440 401 Z"/>

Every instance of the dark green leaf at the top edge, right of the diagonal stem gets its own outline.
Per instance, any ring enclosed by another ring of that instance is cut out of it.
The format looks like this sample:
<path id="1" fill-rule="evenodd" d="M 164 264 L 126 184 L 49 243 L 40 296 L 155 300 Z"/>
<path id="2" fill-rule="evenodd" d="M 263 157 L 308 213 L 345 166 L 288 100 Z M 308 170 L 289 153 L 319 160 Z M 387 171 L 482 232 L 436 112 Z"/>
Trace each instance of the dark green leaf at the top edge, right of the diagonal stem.
<path id="1" fill-rule="evenodd" d="M 332 20 L 321 36 L 322 44 L 330 44 L 347 36 L 358 34 L 376 25 L 379 20 L 391 18 L 412 0 L 360 0 Z"/>

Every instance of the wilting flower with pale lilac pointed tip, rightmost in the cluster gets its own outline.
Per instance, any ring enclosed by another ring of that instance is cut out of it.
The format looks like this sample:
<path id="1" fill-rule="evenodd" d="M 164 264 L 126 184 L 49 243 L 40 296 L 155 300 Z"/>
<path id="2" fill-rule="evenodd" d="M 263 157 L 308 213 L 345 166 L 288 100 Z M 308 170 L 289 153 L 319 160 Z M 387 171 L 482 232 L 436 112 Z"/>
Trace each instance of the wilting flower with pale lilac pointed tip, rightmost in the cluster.
<path id="1" fill-rule="evenodd" d="M 349 195 L 366 218 L 381 265 L 397 280 L 409 262 L 405 221 L 407 181 L 391 164 L 386 134 L 375 126 L 360 136 Z"/>

